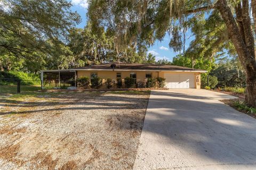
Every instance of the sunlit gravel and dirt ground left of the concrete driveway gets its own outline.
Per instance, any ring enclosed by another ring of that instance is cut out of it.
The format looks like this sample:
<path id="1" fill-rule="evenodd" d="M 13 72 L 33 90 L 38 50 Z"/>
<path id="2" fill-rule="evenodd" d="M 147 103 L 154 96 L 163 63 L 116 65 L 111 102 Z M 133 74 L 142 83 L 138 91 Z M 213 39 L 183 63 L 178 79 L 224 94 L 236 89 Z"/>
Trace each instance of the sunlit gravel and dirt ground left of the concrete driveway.
<path id="1" fill-rule="evenodd" d="M 149 92 L 62 92 L 0 101 L 1 169 L 132 169 Z"/>

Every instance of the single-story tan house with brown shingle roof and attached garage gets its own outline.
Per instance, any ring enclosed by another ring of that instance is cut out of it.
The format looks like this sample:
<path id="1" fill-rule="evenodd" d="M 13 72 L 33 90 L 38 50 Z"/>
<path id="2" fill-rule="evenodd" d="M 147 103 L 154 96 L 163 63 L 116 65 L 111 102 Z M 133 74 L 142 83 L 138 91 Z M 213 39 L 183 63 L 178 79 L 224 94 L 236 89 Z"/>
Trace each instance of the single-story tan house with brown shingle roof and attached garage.
<path id="1" fill-rule="evenodd" d="M 45 72 L 60 73 L 69 72 L 74 74 L 75 79 L 80 77 L 100 77 L 103 83 L 106 79 L 113 80 L 131 77 L 136 82 L 145 82 L 147 78 L 165 78 L 166 88 L 196 88 L 201 86 L 201 73 L 207 71 L 200 69 L 192 69 L 189 67 L 165 65 L 165 64 L 130 64 L 130 63 L 103 63 L 99 65 L 88 65 L 67 70 L 43 70 L 41 71 L 41 79 L 44 82 Z M 58 74 L 57 74 L 58 75 Z M 75 85 L 76 86 L 76 85 Z M 103 87 L 102 87 L 103 88 Z"/>

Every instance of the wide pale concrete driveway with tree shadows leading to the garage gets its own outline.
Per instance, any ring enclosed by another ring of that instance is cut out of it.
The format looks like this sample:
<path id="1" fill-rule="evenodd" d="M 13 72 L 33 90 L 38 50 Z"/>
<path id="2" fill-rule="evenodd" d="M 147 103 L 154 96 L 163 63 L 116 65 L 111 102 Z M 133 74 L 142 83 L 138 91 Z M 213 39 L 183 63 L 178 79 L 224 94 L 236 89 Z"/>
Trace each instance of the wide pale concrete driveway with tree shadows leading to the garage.
<path id="1" fill-rule="evenodd" d="M 256 169 L 256 119 L 201 89 L 151 91 L 133 169 Z"/>

